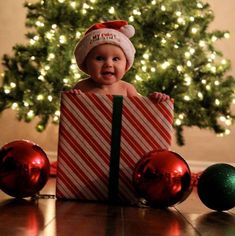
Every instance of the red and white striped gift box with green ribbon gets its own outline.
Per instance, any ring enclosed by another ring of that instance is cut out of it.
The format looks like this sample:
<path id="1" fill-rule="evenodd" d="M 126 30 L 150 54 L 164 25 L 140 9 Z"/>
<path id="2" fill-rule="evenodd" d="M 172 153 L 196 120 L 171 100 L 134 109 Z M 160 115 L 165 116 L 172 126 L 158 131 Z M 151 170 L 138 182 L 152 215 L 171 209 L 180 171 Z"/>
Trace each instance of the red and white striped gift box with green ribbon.
<path id="1" fill-rule="evenodd" d="M 61 95 L 56 196 L 132 203 L 135 164 L 169 149 L 173 102 L 143 96 Z"/>

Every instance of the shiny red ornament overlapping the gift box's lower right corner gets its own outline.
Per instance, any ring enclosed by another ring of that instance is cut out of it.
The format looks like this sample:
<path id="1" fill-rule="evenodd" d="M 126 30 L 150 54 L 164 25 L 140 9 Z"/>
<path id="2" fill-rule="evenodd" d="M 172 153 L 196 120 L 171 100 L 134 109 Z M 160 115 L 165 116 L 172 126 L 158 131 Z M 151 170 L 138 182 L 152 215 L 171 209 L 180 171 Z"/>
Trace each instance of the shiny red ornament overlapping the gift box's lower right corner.
<path id="1" fill-rule="evenodd" d="M 180 203 L 192 191 L 188 164 L 179 154 L 168 150 L 151 151 L 137 162 L 133 184 L 138 197 L 156 208 Z"/>

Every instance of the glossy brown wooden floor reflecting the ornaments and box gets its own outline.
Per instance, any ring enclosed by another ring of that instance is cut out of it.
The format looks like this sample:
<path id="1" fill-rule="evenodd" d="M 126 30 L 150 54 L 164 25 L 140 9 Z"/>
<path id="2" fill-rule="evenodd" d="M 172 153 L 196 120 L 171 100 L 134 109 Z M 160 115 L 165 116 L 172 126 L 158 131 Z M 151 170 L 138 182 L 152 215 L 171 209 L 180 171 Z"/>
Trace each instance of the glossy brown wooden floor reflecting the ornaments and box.
<path id="1" fill-rule="evenodd" d="M 41 194 L 55 194 L 55 178 Z M 215 212 L 193 191 L 169 209 L 109 206 L 106 204 L 16 200 L 0 192 L 1 236 L 234 236 L 235 209 Z"/>

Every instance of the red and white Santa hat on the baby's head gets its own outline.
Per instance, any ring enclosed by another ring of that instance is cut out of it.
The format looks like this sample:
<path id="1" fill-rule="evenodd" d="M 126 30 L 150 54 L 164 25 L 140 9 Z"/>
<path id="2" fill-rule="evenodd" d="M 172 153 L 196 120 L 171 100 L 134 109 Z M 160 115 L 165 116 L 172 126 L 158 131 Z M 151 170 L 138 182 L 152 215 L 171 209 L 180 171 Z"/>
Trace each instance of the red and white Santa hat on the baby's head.
<path id="1" fill-rule="evenodd" d="M 127 59 L 127 70 L 134 62 L 135 48 L 130 39 L 135 34 L 135 28 L 127 21 L 117 20 L 92 25 L 75 47 L 74 55 L 78 67 L 87 73 L 84 65 L 88 53 L 101 44 L 119 46 Z"/>

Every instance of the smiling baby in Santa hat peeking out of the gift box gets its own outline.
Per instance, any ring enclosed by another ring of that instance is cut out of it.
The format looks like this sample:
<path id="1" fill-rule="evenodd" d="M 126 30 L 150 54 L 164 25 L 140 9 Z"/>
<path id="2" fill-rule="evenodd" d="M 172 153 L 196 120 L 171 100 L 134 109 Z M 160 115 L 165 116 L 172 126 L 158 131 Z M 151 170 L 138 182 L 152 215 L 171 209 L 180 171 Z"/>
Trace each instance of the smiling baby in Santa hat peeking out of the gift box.
<path id="1" fill-rule="evenodd" d="M 78 42 L 74 52 L 78 67 L 89 78 L 79 81 L 74 91 L 138 96 L 135 87 L 122 80 L 134 62 L 135 48 L 129 39 L 134 34 L 134 27 L 126 21 L 92 25 Z M 158 101 L 169 98 L 157 92 L 150 97 Z"/>

